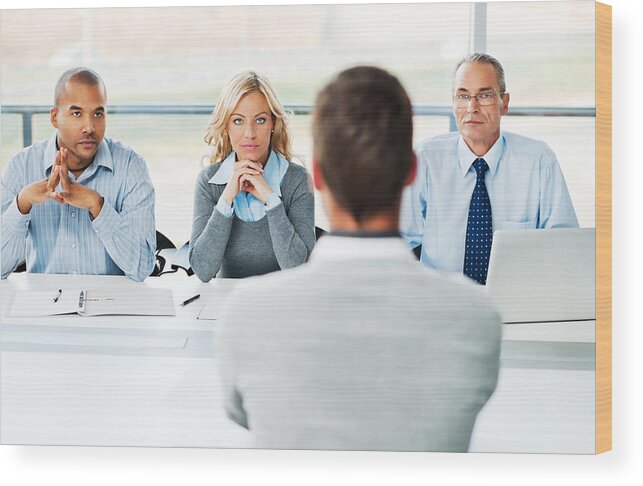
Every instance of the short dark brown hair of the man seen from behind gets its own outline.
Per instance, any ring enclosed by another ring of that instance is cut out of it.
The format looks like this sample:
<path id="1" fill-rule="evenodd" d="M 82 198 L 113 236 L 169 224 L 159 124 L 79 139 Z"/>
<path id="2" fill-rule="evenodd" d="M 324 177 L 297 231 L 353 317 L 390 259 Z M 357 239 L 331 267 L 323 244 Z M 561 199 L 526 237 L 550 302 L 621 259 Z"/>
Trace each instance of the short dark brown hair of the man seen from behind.
<path id="1" fill-rule="evenodd" d="M 413 163 L 413 108 L 392 74 L 339 73 L 318 95 L 314 154 L 337 203 L 357 222 L 399 207 Z"/>

